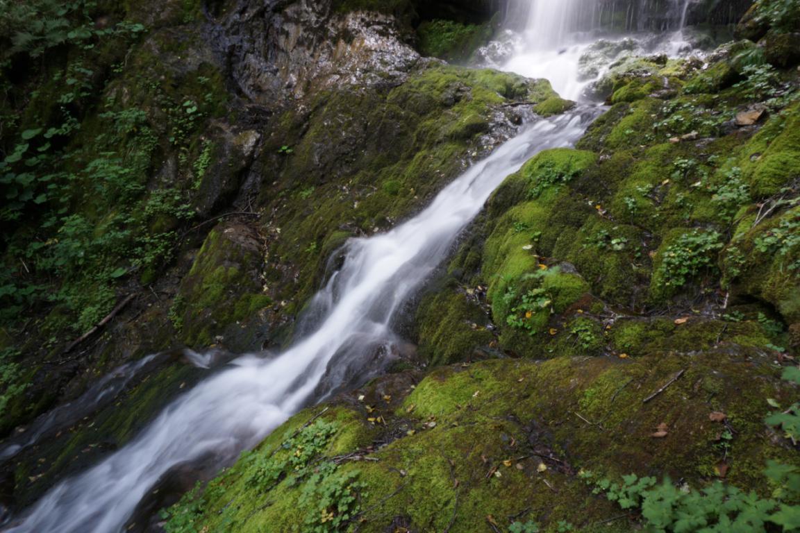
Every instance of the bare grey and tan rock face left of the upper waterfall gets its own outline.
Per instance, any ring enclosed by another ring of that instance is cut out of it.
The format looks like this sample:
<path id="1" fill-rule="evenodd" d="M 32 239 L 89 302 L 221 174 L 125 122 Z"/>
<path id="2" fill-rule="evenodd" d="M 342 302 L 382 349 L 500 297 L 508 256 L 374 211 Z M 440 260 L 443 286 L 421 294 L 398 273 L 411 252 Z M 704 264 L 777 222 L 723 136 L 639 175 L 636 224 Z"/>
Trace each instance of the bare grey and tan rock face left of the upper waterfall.
<path id="1" fill-rule="evenodd" d="M 272 106 L 323 89 L 397 85 L 419 56 L 397 18 L 322 2 L 238 2 L 222 15 L 221 52 L 239 89 Z"/>

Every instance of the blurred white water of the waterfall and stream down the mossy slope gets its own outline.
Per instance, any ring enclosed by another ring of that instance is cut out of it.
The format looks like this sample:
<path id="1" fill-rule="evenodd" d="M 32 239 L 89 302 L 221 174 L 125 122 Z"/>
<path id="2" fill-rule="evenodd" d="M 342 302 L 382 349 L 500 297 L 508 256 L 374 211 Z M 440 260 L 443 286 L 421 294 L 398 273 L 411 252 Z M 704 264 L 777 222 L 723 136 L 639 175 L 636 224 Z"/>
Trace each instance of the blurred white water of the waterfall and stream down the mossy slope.
<path id="1" fill-rule="evenodd" d="M 525 2 L 529 13 L 526 37 L 502 68 L 548 78 L 562 96 L 579 97 L 586 85 L 577 75 L 582 49 L 570 48 L 571 40 L 586 18 L 597 16 L 598 2 L 516 1 Z M 690 0 L 680 1 L 682 25 Z M 597 108 L 583 107 L 526 126 L 417 217 L 388 233 L 350 240 L 342 268 L 314 298 L 316 326 L 292 348 L 279 356 L 235 360 L 175 400 L 126 447 L 58 483 L 5 531 L 121 531 L 173 468 L 209 457 L 218 465 L 230 463 L 310 400 L 346 384 L 348 369 L 358 372 L 376 354 L 390 352 L 381 348 L 395 340 L 391 328 L 398 308 L 442 262 L 503 179 L 542 149 L 572 145 L 597 114 Z"/>

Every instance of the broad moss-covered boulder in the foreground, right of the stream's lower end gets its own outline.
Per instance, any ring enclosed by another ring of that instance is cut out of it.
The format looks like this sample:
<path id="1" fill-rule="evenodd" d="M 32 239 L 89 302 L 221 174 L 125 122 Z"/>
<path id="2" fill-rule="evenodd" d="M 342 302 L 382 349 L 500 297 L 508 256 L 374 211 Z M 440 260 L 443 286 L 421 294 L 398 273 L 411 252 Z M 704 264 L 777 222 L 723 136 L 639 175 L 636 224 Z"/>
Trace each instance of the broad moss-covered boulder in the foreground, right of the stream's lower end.
<path id="1" fill-rule="evenodd" d="M 346 479 L 340 486 L 356 503 L 326 513 L 357 522 L 360 531 L 485 531 L 517 519 L 546 531 L 561 521 L 581 531 L 630 531 L 630 518 L 611 530 L 600 525 L 618 511 L 579 471 L 611 479 L 669 475 L 695 489 L 724 477 L 767 494 L 760 473 L 766 460 L 797 458 L 765 435 L 764 399 L 791 394 L 764 358 L 724 350 L 639 360 L 492 360 L 442 368 L 415 386 L 391 377 L 333 408 L 294 416 L 167 515 L 210 533 L 260 531 L 267 523 L 274 531 L 300 531 L 322 520 L 307 497 L 315 484 Z M 725 414 L 732 440 L 721 439 L 726 426 L 712 412 Z M 255 488 L 259 465 L 290 455 L 296 436 L 313 424 L 334 432 L 317 464 L 338 466 Z M 659 427 L 666 436 L 654 437 Z M 272 504 L 263 505 L 264 498 Z"/>

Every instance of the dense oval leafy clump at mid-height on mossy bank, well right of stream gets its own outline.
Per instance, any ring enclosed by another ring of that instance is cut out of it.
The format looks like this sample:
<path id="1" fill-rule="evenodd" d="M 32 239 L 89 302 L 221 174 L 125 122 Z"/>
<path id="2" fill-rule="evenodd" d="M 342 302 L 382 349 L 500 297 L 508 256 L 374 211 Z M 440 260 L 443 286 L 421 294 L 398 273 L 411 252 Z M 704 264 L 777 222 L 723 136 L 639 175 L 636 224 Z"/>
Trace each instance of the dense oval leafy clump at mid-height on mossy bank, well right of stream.
<path id="1" fill-rule="evenodd" d="M 684 233 L 663 253 L 659 273 L 667 287 L 682 287 L 704 268 L 714 265 L 722 249 L 722 236 L 716 231 Z"/>

